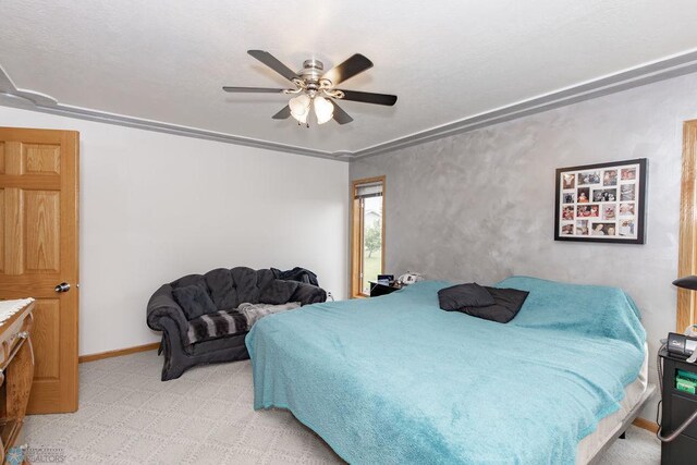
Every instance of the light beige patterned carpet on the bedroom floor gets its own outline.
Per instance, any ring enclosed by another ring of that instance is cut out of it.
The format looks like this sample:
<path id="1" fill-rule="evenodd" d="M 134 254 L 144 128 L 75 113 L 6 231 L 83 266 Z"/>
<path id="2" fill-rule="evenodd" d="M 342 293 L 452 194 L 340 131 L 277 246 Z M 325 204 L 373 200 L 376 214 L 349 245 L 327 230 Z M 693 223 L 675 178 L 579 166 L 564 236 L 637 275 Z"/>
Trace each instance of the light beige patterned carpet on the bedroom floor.
<path id="1" fill-rule="evenodd" d="M 325 464 L 333 451 L 285 411 L 252 408 L 249 362 L 161 382 L 155 352 L 80 366 L 80 409 L 27 418 L 29 458 L 81 464 Z M 35 460 L 34 462 L 39 462 Z M 656 437 L 632 427 L 601 464 L 658 464 Z"/>

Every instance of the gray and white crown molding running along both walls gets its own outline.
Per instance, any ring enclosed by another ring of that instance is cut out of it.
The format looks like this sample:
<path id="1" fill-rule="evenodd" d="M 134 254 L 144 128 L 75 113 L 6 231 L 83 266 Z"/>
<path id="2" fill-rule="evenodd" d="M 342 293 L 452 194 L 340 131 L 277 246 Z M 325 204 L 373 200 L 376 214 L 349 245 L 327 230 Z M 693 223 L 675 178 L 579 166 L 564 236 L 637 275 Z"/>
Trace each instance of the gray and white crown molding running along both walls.
<path id="1" fill-rule="evenodd" d="M 305 155 L 309 157 L 325 158 L 339 161 L 352 161 L 366 157 L 384 154 L 424 144 L 442 137 L 462 134 L 487 127 L 504 121 L 527 117 L 559 107 L 576 103 L 619 93 L 634 87 L 670 79 L 697 72 L 697 50 L 689 51 L 663 60 L 625 70 L 615 74 L 588 81 L 523 100 L 506 107 L 497 108 L 473 117 L 432 127 L 418 133 L 409 134 L 382 144 L 377 144 L 356 151 L 339 150 L 334 152 L 298 147 L 289 144 L 256 139 L 252 137 L 236 136 L 232 134 L 206 131 L 196 127 L 163 123 L 160 121 L 126 117 L 103 111 L 62 105 L 54 98 L 29 89 L 17 88 L 8 73 L 0 65 L 0 106 L 21 108 L 24 110 L 39 111 L 44 113 L 59 114 L 62 117 L 77 118 L 81 120 L 96 121 L 120 126 L 135 127 L 160 133 L 174 134 L 185 137 L 195 137 L 207 140 L 216 140 L 225 144 L 242 145 L 282 151 L 286 154 Z"/>

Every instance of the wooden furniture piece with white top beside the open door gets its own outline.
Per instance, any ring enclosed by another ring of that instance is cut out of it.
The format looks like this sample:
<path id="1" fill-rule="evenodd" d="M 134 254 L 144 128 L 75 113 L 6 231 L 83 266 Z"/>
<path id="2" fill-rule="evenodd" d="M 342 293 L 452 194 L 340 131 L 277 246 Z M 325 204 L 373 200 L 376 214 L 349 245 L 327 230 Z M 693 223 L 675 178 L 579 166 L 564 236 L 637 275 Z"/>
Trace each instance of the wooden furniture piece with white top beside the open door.
<path id="1" fill-rule="evenodd" d="M 34 299 L 0 301 L 0 463 L 20 435 L 29 402 L 33 310 Z"/>

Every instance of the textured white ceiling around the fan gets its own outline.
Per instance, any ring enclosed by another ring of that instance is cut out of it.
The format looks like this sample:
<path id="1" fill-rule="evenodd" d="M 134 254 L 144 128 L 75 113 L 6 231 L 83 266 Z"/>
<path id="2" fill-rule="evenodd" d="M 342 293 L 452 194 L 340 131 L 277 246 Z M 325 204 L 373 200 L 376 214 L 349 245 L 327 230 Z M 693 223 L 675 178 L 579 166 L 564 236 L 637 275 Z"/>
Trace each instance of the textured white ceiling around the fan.
<path id="1" fill-rule="evenodd" d="M 694 0 L 3 0 L 0 65 L 62 105 L 325 151 L 357 151 L 697 48 Z M 285 87 L 246 54 L 375 68 L 343 88 L 354 122 L 310 129 L 271 115 Z"/>

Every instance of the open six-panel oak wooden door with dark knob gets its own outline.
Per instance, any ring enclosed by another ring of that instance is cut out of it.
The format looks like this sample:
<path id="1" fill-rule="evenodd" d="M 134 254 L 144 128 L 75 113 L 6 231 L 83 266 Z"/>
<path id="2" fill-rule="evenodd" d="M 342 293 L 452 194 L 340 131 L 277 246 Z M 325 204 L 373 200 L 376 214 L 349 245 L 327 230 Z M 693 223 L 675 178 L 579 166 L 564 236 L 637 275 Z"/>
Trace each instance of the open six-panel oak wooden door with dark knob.
<path id="1" fill-rule="evenodd" d="M 77 409 L 78 147 L 73 131 L 0 127 L 0 298 L 36 298 L 34 414 Z"/>

